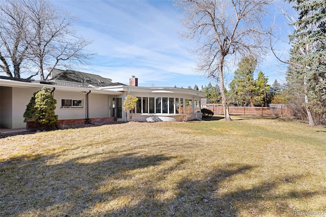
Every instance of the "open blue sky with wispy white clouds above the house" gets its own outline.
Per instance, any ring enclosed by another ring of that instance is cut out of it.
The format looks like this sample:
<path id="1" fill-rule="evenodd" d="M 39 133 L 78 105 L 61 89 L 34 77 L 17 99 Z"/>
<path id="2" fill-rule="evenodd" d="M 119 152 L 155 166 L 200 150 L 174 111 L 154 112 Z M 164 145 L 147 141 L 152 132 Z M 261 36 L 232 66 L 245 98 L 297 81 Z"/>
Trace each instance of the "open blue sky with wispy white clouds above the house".
<path id="1" fill-rule="evenodd" d="M 182 15 L 171 1 L 55 0 L 53 4 L 79 17 L 75 23 L 78 34 L 93 40 L 87 47 L 97 53 L 92 68 L 81 71 L 124 84 L 134 75 L 139 86 L 144 87 L 187 88 L 196 84 L 201 88 L 209 82 L 215 84 L 194 71 L 195 58 L 188 48 L 195 43 L 178 36 Z M 286 28 L 279 18 L 278 24 L 279 28 Z M 279 41 L 277 47 L 282 53 L 289 45 Z M 235 69 L 226 69 L 226 83 L 231 81 Z M 285 80 L 285 67 L 271 53 L 258 70 L 268 76 L 269 84 L 275 79 L 280 83 Z"/>

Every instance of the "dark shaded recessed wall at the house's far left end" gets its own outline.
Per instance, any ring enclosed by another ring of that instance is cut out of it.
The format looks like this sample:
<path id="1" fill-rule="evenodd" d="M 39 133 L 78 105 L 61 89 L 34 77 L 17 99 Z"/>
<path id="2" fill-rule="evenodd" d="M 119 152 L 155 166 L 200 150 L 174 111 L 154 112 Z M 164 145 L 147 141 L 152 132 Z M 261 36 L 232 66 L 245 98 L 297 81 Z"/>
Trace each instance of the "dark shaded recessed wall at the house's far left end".
<path id="1" fill-rule="evenodd" d="M 0 127 L 12 129 L 11 87 L 0 87 Z"/>

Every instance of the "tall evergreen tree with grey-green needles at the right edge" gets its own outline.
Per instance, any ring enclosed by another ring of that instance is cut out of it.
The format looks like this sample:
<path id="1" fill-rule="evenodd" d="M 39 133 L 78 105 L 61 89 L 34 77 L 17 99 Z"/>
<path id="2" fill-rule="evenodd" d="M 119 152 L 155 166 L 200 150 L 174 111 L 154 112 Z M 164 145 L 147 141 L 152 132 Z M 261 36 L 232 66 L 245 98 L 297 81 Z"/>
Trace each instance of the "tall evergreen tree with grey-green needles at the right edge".
<path id="1" fill-rule="evenodd" d="M 292 41 L 287 82 L 293 94 L 304 98 L 311 126 L 326 119 L 326 1 L 290 0 L 299 13 Z"/>

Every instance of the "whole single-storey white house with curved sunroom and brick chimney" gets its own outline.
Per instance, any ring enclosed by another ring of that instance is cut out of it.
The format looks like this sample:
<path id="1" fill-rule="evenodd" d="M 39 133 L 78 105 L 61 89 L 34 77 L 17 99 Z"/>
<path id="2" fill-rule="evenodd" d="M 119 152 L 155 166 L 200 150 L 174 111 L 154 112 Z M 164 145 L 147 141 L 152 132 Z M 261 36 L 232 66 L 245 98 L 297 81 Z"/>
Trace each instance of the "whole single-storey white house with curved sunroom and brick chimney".
<path id="1" fill-rule="evenodd" d="M 23 128 L 23 113 L 33 93 L 43 87 L 57 100 L 59 123 L 106 123 L 127 121 L 122 105 L 130 94 L 139 98 L 132 119 L 135 121 L 179 121 L 178 108 L 191 108 L 192 119 L 201 119 L 200 100 L 205 94 L 182 88 L 138 87 L 132 76 L 129 85 L 112 83 L 99 75 L 72 70 L 52 71 L 46 81 L 0 76 L 0 127 Z"/>

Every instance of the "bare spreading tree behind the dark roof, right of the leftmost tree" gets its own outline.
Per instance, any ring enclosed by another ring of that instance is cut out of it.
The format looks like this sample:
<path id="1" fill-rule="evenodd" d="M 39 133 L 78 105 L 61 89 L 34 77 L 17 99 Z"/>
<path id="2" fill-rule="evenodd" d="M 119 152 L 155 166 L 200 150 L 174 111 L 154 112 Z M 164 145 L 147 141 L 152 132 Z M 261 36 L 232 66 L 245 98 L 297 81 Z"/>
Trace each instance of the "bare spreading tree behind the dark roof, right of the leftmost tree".
<path id="1" fill-rule="evenodd" d="M 31 44 L 33 62 L 39 68 L 41 80 L 47 79 L 57 66 L 70 68 L 76 64 L 89 65 L 94 53 L 85 50 L 91 42 L 76 35 L 68 12 L 53 7 L 48 0 L 25 0 L 30 11 L 35 40 Z M 45 76 L 45 70 L 48 74 Z"/>

